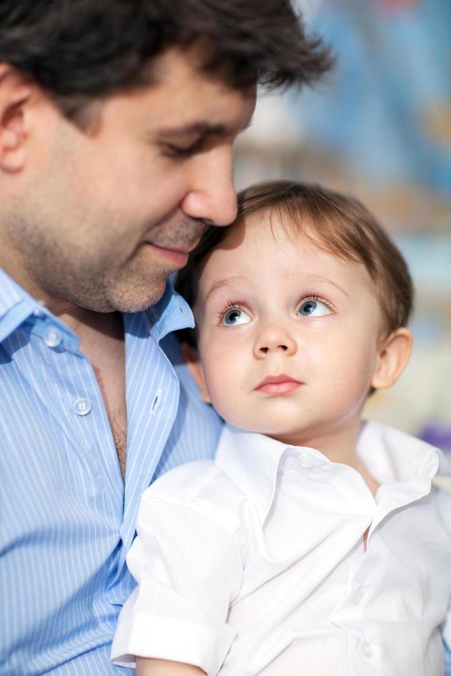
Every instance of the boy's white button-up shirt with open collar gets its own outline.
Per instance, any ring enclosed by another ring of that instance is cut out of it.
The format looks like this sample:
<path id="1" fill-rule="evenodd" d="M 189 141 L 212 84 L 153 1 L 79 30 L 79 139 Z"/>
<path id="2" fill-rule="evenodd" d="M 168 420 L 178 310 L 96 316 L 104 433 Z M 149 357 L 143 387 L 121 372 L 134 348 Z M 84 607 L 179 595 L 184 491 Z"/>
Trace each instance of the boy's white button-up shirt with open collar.
<path id="1" fill-rule="evenodd" d="M 141 499 L 127 559 L 139 587 L 112 659 L 209 676 L 443 675 L 451 495 L 431 479 L 450 466 L 377 423 L 357 452 L 375 499 L 349 466 L 231 426 L 214 462 L 158 479 Z"/>

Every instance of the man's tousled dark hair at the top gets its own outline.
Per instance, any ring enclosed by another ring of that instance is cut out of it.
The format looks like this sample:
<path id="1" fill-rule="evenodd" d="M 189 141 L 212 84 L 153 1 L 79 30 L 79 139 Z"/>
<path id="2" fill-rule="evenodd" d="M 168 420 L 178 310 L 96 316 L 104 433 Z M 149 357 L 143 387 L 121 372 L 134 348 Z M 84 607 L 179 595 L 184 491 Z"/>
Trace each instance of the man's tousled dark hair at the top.
<path id="1" fill-rule="evenodd" d="M 149 83 L 152 58 L 166 48 L 199 42 L 201 70 L 237 88 L 311 84 L 332 64 L 290 0 L 0 2 L 0 61 L 72 119 L 92 99 Z"/>

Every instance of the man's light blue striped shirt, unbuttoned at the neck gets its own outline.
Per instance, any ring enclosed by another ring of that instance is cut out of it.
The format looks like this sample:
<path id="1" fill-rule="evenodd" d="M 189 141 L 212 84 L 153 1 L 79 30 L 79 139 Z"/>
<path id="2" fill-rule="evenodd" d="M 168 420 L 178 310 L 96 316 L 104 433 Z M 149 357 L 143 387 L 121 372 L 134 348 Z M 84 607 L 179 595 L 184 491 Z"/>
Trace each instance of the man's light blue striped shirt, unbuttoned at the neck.
<path id="1" fill-rule="evenodd" d="M 171 467 L 214 453 L 221 422 L 170 335 L 192 326 L 190 308 L 168 285 L 123 319 L 125 489 L 77 336 L 0 270 L 2 675 L 134 673 L 110 664 L 110 642 L 134 587 L 126 553 L 139 497 Z"/>

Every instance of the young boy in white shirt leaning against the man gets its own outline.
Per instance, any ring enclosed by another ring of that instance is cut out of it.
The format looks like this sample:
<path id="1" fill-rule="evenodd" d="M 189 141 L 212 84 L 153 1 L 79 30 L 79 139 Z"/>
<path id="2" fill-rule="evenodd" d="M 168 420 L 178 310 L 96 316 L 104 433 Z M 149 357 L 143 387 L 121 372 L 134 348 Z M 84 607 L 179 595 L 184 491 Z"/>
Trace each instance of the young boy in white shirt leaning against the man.
<path id="1" fill-rule="evenodd" d="M 141 675 L 443 675 L 451 496 L 431 479 L 450 468 L 361 421 L 410 355 L 397 248 L 353 199 L 266 183 L 179 290 L 188 364 L 227 424 L 214 461 L 142 497 L 112 657 Z"/>

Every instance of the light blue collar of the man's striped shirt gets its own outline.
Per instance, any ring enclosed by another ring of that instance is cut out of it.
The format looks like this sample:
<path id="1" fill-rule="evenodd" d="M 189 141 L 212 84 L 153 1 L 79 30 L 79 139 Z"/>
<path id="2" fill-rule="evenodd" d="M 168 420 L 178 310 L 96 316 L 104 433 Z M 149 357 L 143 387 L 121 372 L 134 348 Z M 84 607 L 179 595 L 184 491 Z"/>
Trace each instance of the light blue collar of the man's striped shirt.
<path id="1" fill-rule="evenodd" d="M 66 324 L 41 306 L 0 268 L 0 341 L 6 339 L 26 319 L 39 313 L 52 319 L 78 345 L 77 337 Z M 150 320 L 149 330 L 157 342 L 171 331 L 194 326 L 190 306 L 174 291 L 171 281 L 168 281 L 163 297 L 146 314 Z M 124 313 L 126 327 L 130 324 L 128 318 L 132 316 Z"/>

